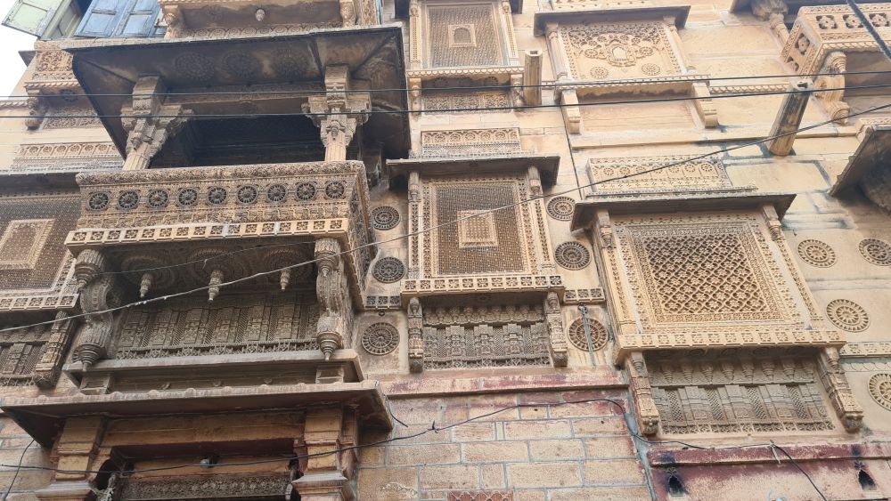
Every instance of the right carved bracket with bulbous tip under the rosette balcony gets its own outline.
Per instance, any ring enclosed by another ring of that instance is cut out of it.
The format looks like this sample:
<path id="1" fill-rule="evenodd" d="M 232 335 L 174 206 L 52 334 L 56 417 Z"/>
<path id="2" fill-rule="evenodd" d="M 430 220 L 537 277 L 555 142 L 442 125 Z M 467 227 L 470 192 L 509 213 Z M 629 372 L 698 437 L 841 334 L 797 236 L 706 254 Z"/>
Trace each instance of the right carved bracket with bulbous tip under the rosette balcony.
<path id="1" fill-rule="evenodd" d="M 315 259 L 319 268 L 315 292 L 320 306 L 315 339 L 325 360 L 346 345 L 350 324 L 349 289 L 339 253 L 340 244 L 334 238 L 315 241 Z"/>

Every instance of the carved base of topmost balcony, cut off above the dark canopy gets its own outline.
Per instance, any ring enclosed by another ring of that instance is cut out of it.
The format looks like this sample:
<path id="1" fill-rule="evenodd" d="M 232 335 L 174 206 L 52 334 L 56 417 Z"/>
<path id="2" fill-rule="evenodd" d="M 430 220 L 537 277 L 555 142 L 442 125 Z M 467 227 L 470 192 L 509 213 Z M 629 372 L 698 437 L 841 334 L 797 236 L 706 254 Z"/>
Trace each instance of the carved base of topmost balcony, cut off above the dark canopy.
<path id="1" fill-rule="evenodd" d="M 273 0 L 160 0 L 166 38 L 230 38 L 351 28 L 380 24 L 373 0 L 314 0 L 295 4 Z"/>

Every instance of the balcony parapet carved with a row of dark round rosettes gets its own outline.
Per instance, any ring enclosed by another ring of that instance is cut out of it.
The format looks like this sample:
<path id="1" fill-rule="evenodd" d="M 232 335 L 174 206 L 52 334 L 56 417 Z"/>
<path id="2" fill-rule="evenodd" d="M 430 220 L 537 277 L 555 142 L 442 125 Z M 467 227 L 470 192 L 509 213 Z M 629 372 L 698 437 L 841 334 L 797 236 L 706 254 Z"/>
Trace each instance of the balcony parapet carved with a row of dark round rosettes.
<path id="1" fill-rule="evenodd" d="M 66 238 L 74 253 L 245 238 L 336 238 L 345 248 L 372 241 L 359 161 L 84 173 L 78 183 L 78 230 Z M 358 301 L 373 250 L 347 256 Z"/>

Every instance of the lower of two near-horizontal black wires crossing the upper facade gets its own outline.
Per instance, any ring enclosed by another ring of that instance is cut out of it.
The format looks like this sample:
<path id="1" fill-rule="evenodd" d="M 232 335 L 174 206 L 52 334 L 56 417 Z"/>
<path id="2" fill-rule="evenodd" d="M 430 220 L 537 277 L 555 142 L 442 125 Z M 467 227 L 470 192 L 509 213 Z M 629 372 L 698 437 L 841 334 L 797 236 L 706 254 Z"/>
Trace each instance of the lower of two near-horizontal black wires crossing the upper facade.
<path id="1" fill-rule="evenodd" d="M 550 104 L 530 104 L 530 105 L 521 105 L 521 106 L 492 106 L 486 108 L 448 108 L 448 109 L 431 109 L 431 110 L 423 110 L 426 112 L 435 112 L 435 113 L 463 113 L 463 112 L 480 112 L 480 111 L 516 111 L 522 109 L 552 109 L 552 108 L 586 108 L 589 106 L 609 106 L 609 105 L 617 105 L 617 104 L 650 104 L 650 103 L 658 103 L 658 102 L 678 102 L 678 101 L 701 101 L 701 100 L 713 100 L 713 99 L 732 99 L 737 97 L 758 97 L 758 96 L 772 96 L 772 95 L 786 95 L 786 94 L 797 94 L 797 93 L 827 93 L 833 91 L 851 91 L 851 90 L 862 90 L 862 89 L 886 89 L 891 87 L 891 84 L 876 84 L 876 85 L 851 85 L 851 86 L 843 86 L 843 87 L 827 87 L 824 89 L 789 89 L 786 91 L 764 91 L 760 93 L 727 93 L 727 94 L 715 94 L 709 96 L 678 96 L 678 97 L 670 97 L 670 98 L 661 98 L 661 99 L 641 99 L 641 100 L 626 100 L 626 101 L 594 101 L 594 102 L 579 102 L 573 104 L 567 104 L 564 102 L 554 102 Z M 283 113 L 192 113 L 188 115 L 183 114 L 145 114 L 145 115 L 135 115 L 135 114 L 110 114 L 110 115 L 64 115 L 66 118 L 258 118 L 258 117 L 337 117 L 340 115 L 347 115 L 350 117 L 356 116 L 371 116 L 371 115 L 409 115 L 413 113 L 421 113 L 422 110 L 412 110 L 412 109 L 364 109 L 358 111 L 330 111 L 330 112 L 283 112 Z M 44 118 L 52 118 L 54 115 L 0 115 L 0 118 L 36 118 L 36 119 L 44 119 Z M 838 118 L 836 118 L 838 120 Z M 830 123 L 835 120 L 830 120 Z"/>

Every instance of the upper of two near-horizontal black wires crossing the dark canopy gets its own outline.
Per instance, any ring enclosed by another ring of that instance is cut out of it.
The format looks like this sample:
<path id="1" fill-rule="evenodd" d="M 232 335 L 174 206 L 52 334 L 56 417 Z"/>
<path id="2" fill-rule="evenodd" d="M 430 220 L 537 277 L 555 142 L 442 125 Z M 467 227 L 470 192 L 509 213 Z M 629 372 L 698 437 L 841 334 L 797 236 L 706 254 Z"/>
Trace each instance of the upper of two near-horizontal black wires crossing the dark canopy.
<path id="1" fill-rule="evenodd" d="M 620 78 L 615 80 L 573 80 L 568 82 L 549 82 L 547 84 L 506 84 L 506 85 L 455 85 L 448 87 L 419 87 L 417 89 L 408 88 L 380 88 L 380 89 L 343 89 L 336 91 L 315 90 L 315 89 L 295 89 L 293 91 L 191 91 L 191 92 L 172 92 L 172 93 L 82 93 L 78 96 L 87 97 L 154 97 L 154 96 L 191 96 L 191 95 L 291 95 L 291 94 L 327 94 L 327 93 L 406 93 L 406 92 L 440 92 L 440 91 L 478 91 L 478 90 L 504 90 L 504 89 L 527 89 L 527 88 L 559 88 L 559 87 L 584 87 L 599 85 L 621 85 L 634 84 L 641 85 L 647 83 L 656 84 L 678 84 L 685 82 L 721 82 L 724 80 L 760 80 L 767 78 L 803 78 L 803 77 L 838 77 L 854 76 L 854 75 L 887 75 L 891 74 L 891 70 L 872 70 L 872 71 L 846 71 L 839 73 L 801 73 L 801 74 L 776 74 L 776 75 L 748 75 L 748 76 L 732 76 L 732 77 L 709 77 L 709 76 L 692 76 L 686 78 Z M 295 85 L 299 85 L 296 83 Z M 262 85 L 262 84 L 261 84 Z M 716 85 L 720 86 L 720 85 Z M 34 96 L 27 94 L 12 94 L 6 96 L 7 99 L 29 99 Z M 2 102 L 2 101 L 0 101 Z"/>

